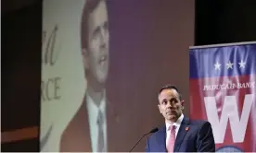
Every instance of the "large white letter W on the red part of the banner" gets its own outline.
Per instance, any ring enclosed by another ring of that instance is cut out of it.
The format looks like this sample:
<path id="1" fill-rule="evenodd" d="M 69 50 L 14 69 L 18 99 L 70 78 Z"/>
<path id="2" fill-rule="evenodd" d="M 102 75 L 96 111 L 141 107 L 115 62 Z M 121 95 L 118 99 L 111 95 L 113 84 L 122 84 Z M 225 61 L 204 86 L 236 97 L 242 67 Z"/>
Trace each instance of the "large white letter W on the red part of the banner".
<path id="1" fill-rule="evenodd" d="M 245 96 L 240 120 L 238 116 L 237 100 L 235 96 L 225 96 L 220 120 L 216 107 L 215 97 L 204 98 L 207 118 L 208 121 L 211 123 L 212 132 L 216 144 L 224 142 L 224 135 L 228 119 L 230 121 L 233 142 L 241 143 L 244 141 L 245 132 L 249 120 L 250 108 L 253 101 L 252 98 L 252 94 L 248 94 Z"/>

